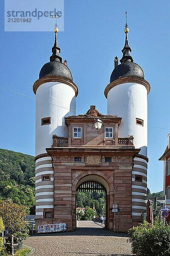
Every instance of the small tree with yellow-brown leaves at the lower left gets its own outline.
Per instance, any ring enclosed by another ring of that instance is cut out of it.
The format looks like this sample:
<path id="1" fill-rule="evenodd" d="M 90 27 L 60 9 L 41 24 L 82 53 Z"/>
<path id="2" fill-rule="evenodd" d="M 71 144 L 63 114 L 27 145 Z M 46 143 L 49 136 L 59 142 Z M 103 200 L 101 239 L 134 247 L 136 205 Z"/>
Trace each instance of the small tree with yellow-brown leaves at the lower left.
<path id="1" fill-rule="evenodd" d="M 11 199 L 0 200 L 0 217 L 5 227 L 8 227 L 10 235 L 23 240 L 28 236 L 27 222 L 24 217 L 28 214 L 26 206 L 15 204 Z"/>

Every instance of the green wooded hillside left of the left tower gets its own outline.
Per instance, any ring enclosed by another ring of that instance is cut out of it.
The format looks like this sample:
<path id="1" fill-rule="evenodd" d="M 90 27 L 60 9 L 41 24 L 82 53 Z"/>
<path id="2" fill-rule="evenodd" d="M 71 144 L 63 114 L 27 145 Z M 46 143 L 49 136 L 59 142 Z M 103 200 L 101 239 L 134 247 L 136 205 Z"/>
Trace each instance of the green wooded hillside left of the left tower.
<path id="1" fill-rule="evenodd" d="M 35 204 L 33 156 L 0 148 L 0 198 L 28 207 Z"/>

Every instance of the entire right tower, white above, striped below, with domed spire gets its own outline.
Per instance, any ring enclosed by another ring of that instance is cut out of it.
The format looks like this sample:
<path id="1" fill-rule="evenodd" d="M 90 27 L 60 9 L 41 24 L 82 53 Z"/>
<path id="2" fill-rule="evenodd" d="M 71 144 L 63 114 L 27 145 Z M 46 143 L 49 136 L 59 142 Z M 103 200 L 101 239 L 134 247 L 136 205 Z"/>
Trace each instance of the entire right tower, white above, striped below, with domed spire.
<path id="1" fill-rule="evenodd" d="M 141 212 L 146 209 L 147 195 L 147 94 L 150 84 L 144 80 L 142 68 L 133 62 L 130 56 L 125 25 L 125 46 L 123 56 L 118 64 L 115 57 L 114 69 L 111 73 L 110 84 L 105 88 L 105 97 L 108 99 L 108 115 L 122 117 L 118 136 L 133 135 L 135 148 L 141 148 L 138 157 L 134 158 L 132 171 L 132 218 L 139 222 Z"/>

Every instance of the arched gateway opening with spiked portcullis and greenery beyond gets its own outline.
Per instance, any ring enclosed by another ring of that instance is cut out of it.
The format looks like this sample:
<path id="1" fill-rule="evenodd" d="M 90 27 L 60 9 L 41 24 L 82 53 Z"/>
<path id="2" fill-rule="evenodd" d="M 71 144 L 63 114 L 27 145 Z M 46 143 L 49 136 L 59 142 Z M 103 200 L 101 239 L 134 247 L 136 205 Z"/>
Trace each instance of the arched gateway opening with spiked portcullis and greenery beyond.
<path id="1" fill-rule="evenodd" d="M 100 217 L 105 217 L 102 227 L 108 228 L 109 202 L 108 193 L 110 189 L 108 183 L 98 175 L 87 175 L 82 177 L 76 186 L 76 219 L 89 219 L 86 207 L 94 211 L 95 222 L 101 224 Z M 105 224 L 104 224 L 105 223 Z"/>

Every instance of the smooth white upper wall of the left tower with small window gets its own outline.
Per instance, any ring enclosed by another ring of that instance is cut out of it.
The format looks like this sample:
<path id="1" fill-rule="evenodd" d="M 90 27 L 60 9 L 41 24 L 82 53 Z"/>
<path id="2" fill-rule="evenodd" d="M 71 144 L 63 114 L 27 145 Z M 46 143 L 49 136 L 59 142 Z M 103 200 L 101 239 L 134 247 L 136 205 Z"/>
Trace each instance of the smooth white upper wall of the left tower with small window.
<path id="1" fill-rule="evenodd" d="M 75 92 L 67 84 L 48 82 L 40 85 L 36 92 L 36 99 L 50 102 L 48 104 L 36 100 L 36 153 L 46 153 L 45 148 L 52 145 L 52 135 L 68 137 L 67 127 L 64 124 L 65 116 L 75 115 Z M 58 106 L 64 108 L 60 108 Z M 67 108 L 67 109 L 65 109 Z M 51 117 L 51 125 L 41 125 L 43 117 Z"/>

